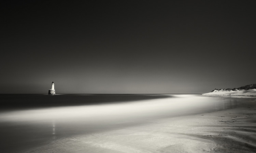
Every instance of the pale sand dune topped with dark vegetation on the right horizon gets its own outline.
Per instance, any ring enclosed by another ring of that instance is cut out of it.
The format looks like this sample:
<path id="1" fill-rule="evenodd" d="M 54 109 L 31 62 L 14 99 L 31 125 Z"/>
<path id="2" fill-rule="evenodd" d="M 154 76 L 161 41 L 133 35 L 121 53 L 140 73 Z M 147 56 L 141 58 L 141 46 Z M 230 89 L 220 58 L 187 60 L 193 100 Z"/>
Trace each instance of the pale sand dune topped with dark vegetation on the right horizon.
<path id="1" fill-rule="evenodd" d="M 236 96 L 256 96 L 256 84 L 249 84 L 239 88 L 214 89 L 202 95 L 236 95 Z"/>

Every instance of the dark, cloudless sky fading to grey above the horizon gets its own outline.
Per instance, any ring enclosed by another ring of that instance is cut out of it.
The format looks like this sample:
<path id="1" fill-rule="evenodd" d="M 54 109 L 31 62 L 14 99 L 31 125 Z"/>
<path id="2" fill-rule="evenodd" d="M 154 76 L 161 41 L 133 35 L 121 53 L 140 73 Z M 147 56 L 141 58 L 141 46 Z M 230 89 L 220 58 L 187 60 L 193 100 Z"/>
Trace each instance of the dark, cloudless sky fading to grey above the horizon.
<path id="1" fill-rule="evenodd" d="M 0 93 L 206 93 L 256 83 L 248 1 L 1 2 Z"/>

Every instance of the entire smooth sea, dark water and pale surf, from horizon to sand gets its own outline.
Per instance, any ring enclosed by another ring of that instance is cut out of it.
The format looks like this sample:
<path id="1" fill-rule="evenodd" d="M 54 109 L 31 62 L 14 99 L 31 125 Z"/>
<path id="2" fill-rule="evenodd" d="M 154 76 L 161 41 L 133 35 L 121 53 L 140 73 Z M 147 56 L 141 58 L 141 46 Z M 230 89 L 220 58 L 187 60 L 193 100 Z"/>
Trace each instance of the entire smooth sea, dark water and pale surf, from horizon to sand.
<path id="1" fill-rule="evenodd" d="M 244 100 L 182 94 L 0 94 L 0 152 L 33 152 L 63 138 L 236 108 Z"/>

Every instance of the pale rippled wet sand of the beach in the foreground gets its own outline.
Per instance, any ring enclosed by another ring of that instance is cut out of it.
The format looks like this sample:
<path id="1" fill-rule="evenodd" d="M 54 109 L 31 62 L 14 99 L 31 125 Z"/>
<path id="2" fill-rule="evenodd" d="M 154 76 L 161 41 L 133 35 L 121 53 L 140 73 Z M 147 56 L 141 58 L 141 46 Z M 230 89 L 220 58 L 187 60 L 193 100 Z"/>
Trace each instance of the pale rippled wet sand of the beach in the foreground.
<path id="1" fill-rule="evenodd" d="M 256 152 L 255 103 L 61 138 L 30 152 Z"/>

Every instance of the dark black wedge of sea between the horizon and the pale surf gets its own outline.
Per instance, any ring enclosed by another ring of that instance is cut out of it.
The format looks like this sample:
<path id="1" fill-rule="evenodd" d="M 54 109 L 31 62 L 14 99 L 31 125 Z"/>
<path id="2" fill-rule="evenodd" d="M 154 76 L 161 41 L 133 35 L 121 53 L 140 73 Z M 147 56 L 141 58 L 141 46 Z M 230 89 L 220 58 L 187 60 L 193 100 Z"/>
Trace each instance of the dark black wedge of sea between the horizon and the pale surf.
<path id="1" fill-rule="evenodd" d="M 0 111 L 119 103 L 167 97 L 170 96 L 159 94 L 0 94 Z"/>

